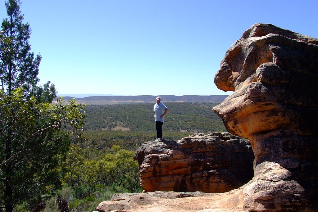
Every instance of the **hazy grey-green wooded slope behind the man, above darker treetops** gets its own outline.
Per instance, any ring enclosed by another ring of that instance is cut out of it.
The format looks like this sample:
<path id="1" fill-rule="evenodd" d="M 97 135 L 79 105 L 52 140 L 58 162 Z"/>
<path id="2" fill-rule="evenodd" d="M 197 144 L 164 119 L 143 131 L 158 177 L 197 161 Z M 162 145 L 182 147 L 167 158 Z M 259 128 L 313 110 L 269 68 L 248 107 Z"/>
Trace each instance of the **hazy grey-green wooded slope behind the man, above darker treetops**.
<path id="1" fill-rule="evenodd" d="M 84 129 L 153 131 L 153 105 L 88 105 Z M 165 105 L 169 109 L 165 116 L 165 131 L 209 133 L 225 130 L 222 120 L 212 112 L 212 107 L 217 103 L 167 102 Z"/>

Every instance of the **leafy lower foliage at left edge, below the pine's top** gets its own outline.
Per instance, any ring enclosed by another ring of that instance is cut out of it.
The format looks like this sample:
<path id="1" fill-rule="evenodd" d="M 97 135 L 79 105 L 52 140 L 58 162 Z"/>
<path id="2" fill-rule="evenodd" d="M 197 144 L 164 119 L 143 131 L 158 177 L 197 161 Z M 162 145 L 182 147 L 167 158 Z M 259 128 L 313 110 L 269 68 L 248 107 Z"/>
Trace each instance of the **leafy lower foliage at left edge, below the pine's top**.
<path id="1" fill-rule="evenodd" d="M 26 98 L 23 89 L 0 91 L 0 204 L 6 211 L 58 188 L 57 166 L 65 157 L 70 135 L 80 139 L 84 107 L 61 100 L 51 105 Z M 74 140 L 74 141 L 75 141 Z"/>

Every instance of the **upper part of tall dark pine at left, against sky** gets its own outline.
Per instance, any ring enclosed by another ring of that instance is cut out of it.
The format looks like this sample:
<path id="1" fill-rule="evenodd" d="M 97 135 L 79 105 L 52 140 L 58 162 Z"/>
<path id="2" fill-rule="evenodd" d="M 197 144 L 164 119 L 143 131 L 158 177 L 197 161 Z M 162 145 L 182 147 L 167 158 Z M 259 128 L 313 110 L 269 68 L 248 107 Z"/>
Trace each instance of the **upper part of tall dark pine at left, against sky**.
<path id="1" fill-rule="evenodd" d="M 6 94 L 18 87 L 24 87 L 24 91 L 29 92 L 39 81 L 41 55 L 34 57 L 34 53 L 30 52 L 30 24 L 22 22 L 24 15 L 21 14 L 20 5 L 20 0 L 5 2 L 8 17 L 3 19 L 2 33 L 11 40 L 13 48 L 5 52 L 0 61 L 0 81 Z"/>

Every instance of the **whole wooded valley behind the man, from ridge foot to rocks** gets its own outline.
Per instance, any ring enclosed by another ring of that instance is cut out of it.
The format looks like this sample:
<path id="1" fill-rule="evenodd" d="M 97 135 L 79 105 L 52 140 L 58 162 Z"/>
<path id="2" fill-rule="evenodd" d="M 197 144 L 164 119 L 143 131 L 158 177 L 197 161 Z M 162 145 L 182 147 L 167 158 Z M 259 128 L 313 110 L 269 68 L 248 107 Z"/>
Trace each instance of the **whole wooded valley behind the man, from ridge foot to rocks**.
<path id="1" fill-rule="evenodd" d="M 196 132 L 226 132 L 222 120 L 212 111 L 218 103 L 167 102 L 163 124 L 166 140 L 180 140 Z M 153 103 L 87 105 L 84 134 L 86 146 L 109 149 L 114 144 L 135 150 L 143 142 L 156 138 Z"/>

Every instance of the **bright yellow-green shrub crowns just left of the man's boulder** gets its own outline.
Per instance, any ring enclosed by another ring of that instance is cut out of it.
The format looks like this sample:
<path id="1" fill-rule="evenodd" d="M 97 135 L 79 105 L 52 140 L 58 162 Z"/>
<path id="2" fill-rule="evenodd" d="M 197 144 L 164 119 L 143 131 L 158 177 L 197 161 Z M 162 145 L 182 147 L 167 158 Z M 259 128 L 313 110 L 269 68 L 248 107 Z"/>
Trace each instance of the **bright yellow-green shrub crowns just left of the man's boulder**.
<path id="1" fill-rule="evenodd" d="M 139 189 L 139 165 L 133 160 L 134 151 L 114 145 L 107 154 L 84 161 L 83 151 L 72 146 L 65 160 L 65 181 L 73 188 L 84 186 L 90 195 L 100 184 L 117 184 L 133 192 Z"/>

